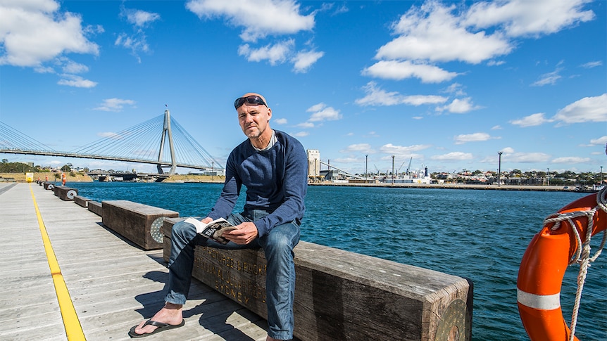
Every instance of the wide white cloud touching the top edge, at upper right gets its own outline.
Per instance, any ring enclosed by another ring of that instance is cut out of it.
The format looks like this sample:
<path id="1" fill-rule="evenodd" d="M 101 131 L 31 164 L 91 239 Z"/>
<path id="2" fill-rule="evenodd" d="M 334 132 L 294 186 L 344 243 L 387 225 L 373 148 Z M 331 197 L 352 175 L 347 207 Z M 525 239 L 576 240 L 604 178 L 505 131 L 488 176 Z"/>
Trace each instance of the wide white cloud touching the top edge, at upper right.
<path id="1" fill-rule="evenodd" d="M 510 37 L 539 36 L 594 19 L 592 11 L 582 11 L 587 0 L 511 0 L 473 4 L 466 24 L 487 28 L 503 27 Z"/>

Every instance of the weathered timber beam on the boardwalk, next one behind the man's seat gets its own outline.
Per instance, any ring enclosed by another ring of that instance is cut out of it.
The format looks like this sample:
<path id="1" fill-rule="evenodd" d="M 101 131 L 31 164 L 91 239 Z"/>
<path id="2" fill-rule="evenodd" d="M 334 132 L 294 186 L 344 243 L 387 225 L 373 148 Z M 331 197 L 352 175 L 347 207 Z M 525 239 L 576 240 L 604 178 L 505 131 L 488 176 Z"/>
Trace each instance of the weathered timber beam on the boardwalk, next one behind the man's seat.
<path id="1" fill-rule="evenodd" d="M 179 212 L 128 200 L 102 201 L 101 207 L 104 225 L 144 250 L 163 248 L 162 238 L 155 240 L 152 235 L 153 225 L 157 226 L 156 233 L 159 234 L 165 217 L 179 217 Z"/>

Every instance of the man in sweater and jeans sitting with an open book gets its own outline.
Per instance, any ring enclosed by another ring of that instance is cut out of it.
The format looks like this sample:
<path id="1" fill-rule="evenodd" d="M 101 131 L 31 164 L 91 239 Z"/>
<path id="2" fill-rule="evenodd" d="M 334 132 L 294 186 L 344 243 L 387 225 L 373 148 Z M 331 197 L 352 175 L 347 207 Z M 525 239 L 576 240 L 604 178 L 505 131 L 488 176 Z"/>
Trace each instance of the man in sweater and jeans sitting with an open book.
<path id="1" fill-rule="evenodd" d="M 194 246 L 206 245 L 228 249 L 263 248 L 268 262 L 266 340 L 292 339 L 293 248 L 299 243 L 299 225 L 305 210 L 308 160 L 299 141 L 270 128 L 272 110 L 267 103 L 263 96 L 254 93 L 244 94 L 234 101 L 240 127 L 248 139 L 230 153 L 223 191 L 211 212 L 202 219 L 208 223 L 227 217 L 237 226 L 236 230 L 223 234 L 230 243 L 222 245 L 197 235 L 192 224 L 175 224 L 165 306 L 149 321 L 131 328 L 131 337 L 183 326 L 182 305 L 192 278 Z M 244 211 L 232 214 L 242 185 L 246 186 Z"/>

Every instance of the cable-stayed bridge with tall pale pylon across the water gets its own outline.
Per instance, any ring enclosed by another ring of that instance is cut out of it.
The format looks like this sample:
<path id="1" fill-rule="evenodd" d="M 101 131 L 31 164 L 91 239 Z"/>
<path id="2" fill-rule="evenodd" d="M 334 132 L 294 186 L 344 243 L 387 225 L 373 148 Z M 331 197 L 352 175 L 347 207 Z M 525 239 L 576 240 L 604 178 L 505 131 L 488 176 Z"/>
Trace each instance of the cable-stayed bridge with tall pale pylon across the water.
<path id="1" fill-rule="evenodd" d="M 220 163 L 170 117 L 169 110 L 68 152 L 53 150 L 0 122 L 0 153 L 145 163 L 156 165 L 159 174 L 164 173 L 163 167 L 170 167 L 169 175 L 175 174 L 176 167 L 221 169 Z"/>

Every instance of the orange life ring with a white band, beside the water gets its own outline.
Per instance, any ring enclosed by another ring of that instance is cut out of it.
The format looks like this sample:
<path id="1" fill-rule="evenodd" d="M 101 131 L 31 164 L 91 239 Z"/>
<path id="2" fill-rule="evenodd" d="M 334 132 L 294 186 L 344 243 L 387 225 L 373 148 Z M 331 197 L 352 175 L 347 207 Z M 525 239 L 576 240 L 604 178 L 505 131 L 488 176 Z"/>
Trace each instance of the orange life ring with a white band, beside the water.
<path id="1" fill-rule="evenodd" d="M 597 206 L 597 195 L 575 200 L 558 213 L 589 211 Z M 571 219 L 583 241 L 587 237 L 588 217 Z M 565 270 L 577 254 L 575 231 L 567 221 L 545 224 L 525 251 L 520 262 L 517 281 L 518 312 L 530 340 L 569 340 L 570 329 L 561 311 L 561 284 Z M 597 209 L 593 217 L 592 236 L 607 228 L 607 214 Z M 575 340 L 578 340 L 575 337 Z"/>

